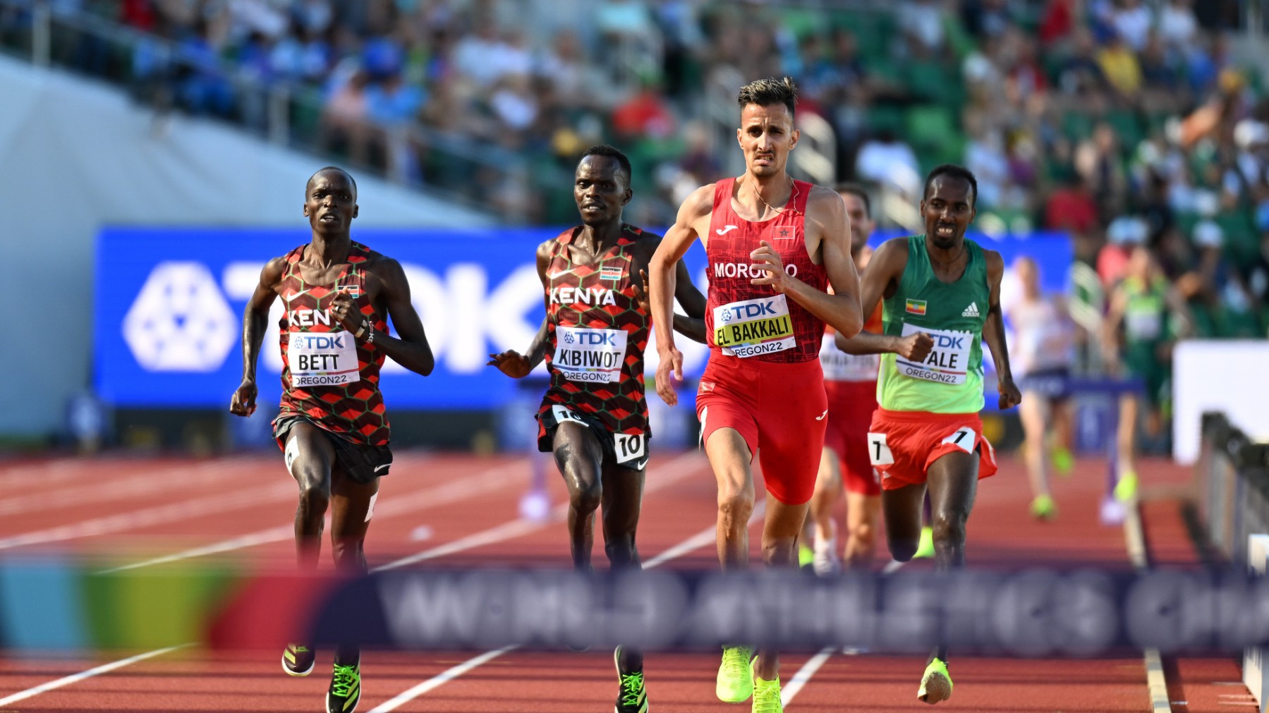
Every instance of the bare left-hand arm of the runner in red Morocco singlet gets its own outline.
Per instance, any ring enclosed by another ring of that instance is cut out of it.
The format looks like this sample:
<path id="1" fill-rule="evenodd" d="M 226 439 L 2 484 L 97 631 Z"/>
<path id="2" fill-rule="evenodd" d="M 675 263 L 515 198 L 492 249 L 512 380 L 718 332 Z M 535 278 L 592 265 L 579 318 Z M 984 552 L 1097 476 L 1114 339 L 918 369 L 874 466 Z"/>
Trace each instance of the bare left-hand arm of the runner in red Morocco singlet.
<path id="1" fill-rule="evenodd" d="M 714 184 L 702 185 L 692 192 L 692 195 L 679 206 L 679 214 L 674 225 L 665 232 L 661 245 L 648 261 L 648 289 L 652 297 L 652 329 L 656 330 L 656 350 L 661 355 L 661 362 L 656 367 L 656 393 L 661 400 L 674 406 L 679 402 L 679 396 L 670 384 L 670 374 L 674 378 L 683 378 L 683 353 L 674 346 L 674 302 L 678 294 L 679 270 L 675 264 L 681 263 L 683 256 L 692 247 L 692 242 L 700 239 L 706 244 L 706 233 L 709 231 L 709 211 L 713 209 Z M 687 310 L 687 307 L 684 307 Z"/>

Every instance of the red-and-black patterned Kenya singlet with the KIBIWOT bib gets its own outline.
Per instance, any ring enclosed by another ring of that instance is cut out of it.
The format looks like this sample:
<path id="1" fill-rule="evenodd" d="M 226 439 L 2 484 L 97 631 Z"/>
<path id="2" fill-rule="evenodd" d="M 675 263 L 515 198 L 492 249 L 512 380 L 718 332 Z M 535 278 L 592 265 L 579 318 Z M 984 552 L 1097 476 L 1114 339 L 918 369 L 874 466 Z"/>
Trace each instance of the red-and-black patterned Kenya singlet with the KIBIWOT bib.
<path id="1" fill-rule="evenodd" d="M 636 299 L 633 246 L 643 231 L 622 226 L 617 245 L 594 264 L 577 264 L 567 246 L 581 227 L 570 228 L 551 246 L 547 265 L 547 368 L 551 388 L 541 419 L 563 405 L 598 417 L 612 433 L 647 434 L 643 397 L 643 349 L 647 312 Z"/>

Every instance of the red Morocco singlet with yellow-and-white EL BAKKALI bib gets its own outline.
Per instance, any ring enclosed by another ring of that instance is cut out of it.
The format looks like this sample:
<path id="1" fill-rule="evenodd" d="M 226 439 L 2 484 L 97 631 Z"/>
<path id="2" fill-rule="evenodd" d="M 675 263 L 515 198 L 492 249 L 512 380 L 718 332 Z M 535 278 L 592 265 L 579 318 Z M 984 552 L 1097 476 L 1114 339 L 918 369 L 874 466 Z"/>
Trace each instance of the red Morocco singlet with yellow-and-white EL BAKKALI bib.
<path id="1" fill-rule="evenodd" d="M 819 358 L 824 322 L 792 298 L 749 280 L 765 277 L 751 270 L 749 254 L 765 240 L 780 254 L 784 270 L 815 289 L 826 291 L 824 265 L 806 251 L 806 204 L 813 184 L 794 180 L 782 212 L 765 222 L 746 221 L 731 206 L 735 178 L 714 185 L 708 258 L 709 301 L 706 332 L 712 353 L 759 362 L 798 363 Z"/>

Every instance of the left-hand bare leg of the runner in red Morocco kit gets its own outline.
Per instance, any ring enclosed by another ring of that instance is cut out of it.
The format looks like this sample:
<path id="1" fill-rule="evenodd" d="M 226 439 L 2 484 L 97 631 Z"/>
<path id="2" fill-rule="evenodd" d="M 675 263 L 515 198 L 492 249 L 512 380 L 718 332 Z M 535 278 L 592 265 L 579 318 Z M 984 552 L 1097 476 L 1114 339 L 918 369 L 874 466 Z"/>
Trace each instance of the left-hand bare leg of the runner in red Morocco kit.
<path id="1" fill-rule="evenodd" d="M 706 455 L 718 485 L 718 562 L 723 570 L 744 570 L 749 566 L 749 516 L 754 513 L 753 454 L 740 431 L 721 428 L 706 440 Z"/>

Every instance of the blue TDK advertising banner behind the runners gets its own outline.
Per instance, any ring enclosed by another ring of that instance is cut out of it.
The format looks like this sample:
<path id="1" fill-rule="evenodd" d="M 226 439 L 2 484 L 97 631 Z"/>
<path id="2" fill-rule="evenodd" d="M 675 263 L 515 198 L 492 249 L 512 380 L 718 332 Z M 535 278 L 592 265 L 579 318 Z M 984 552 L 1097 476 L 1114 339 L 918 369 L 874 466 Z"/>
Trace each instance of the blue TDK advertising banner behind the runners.
<path id="1" fill-rule="evenodd" d="M 360 230 L 354 239 L 396 258 L 410 280 L 415 308 L 437 356 L 426 378 L 388 362 L 383 393 L 390 409 L 485 410 L 515 396 L 516 384 L 489 354 L 528 346 L 542 321 L 536 246 L 556 228 Z M 893 233 L 891 233 L 892 236 Z M 873 240 L 879 244 L 886 235 Z M 1071 263 L 1062 235 L 996 241 L 1006 264 L 1030 255 L 1046 289 L 1065 292 Z M 227 407 L 242 374 L 242 311 L 260 269 L 308 241 L 306 227 L 126 228 L 102 231 L 94 304 L 94 383 L 113 406 Z M 704 251 L 688 252 L 689 271 L 706 285 Z M 282 358 L 274 303 L 260 353 L 260 401 L 280 395 Z M 680 339 L 685 376 L 699 376 L 708 350 Z M 656 349 L 648 345 L 648 373 Z"/>

